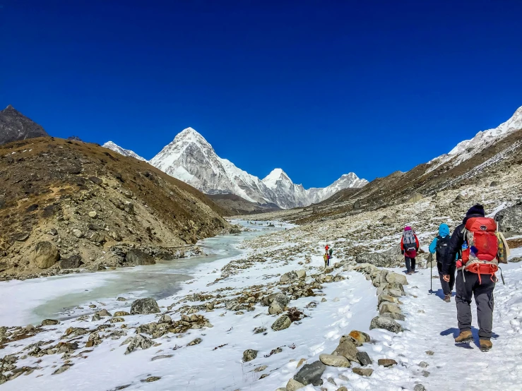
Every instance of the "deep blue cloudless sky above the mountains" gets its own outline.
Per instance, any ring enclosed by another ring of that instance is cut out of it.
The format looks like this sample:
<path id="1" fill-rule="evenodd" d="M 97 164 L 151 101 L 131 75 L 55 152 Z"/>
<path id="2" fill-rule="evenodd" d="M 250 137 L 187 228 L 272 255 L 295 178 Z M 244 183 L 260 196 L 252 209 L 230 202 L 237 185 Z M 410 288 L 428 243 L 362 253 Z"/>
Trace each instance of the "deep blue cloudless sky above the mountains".
<path id="1" fill-rule="evenodd" d="M 371 180 L 522 105 L 522 1 L 0 6 L 0 106 L 146 158 L 192 126 L 260 177 Z"/>

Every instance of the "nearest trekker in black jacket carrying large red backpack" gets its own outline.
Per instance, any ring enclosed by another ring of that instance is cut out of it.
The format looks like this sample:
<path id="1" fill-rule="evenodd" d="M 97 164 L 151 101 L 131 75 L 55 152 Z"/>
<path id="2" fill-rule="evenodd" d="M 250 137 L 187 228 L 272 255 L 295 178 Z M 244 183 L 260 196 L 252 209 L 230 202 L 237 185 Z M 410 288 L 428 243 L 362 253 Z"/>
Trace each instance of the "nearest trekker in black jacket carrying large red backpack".
<path id="1" fill-rule="evenodd" d="M 480 350 L 492 348 L 493 327 L 493 290 L 499 270 L 497 223 L 485 217 L 484 207 L 474 205 L 465 214 L 449 243 L 449 251 L 442 264 L 443 278 L 449 282 L 451 266 L 458 255 L 456 297 L 458 328 L 460 335 L 456 343 L 473 339 L 471 334 L 471 298 L 475 296 L 477 304 L 478 337 Z"/>

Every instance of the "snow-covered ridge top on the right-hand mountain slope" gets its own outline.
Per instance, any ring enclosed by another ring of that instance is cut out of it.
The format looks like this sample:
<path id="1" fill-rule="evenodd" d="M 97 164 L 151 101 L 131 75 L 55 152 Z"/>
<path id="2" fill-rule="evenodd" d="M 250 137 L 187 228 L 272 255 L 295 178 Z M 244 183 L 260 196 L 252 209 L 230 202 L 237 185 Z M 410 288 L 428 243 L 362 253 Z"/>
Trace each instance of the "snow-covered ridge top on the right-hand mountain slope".
<path id="1" fill-rule="evenodd" d="M 428 164 L 432 163 L 433 165 L 427 169 L 427 173 L 434 171 L 450 161 L 451 167 L 456 167 L 458 164 L 465 162 L 470 157 L 473 157 L 490 145 L 497 143 L 502 138 L 520 129 L 522 129 L 522 106 L 518 107 L 513 116 L 503 124 L 497 126 L 497 128 L 480 131 L 472 139 L 463 140 L 458 143 L 455 148 L 446 155 L 441 155 L 430 160 Z"/>

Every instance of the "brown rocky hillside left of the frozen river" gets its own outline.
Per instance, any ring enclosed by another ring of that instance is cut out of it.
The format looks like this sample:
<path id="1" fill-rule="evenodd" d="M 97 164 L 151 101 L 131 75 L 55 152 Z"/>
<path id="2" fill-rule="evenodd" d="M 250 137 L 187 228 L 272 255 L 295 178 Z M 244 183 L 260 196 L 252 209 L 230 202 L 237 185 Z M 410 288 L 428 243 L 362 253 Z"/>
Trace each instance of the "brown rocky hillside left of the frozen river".
<path id="1" fill-rule="evenodd" d="M 227 227 L 223 209 L 203 193 L 95 144 L 35 138 L 3 145 L 0 181 L 4 279 L 176 258 Z M 129 257 L 130 248 L 143 253 Z"/>

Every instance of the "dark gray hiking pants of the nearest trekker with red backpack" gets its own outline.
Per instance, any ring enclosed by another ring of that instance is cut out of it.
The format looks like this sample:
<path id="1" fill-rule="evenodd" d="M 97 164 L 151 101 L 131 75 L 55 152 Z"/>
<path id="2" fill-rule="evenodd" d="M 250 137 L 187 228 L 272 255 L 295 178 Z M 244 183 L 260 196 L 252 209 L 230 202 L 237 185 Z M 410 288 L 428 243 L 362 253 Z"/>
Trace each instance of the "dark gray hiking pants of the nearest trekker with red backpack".
<path id="1" fill-rule="evenodd" d="M 478 275 L 472 272 L 465 273 L 458 270 L 456 279 L 455 301 L 457 303 L 458 328 L 463 331 L 471 331 L 471 296 L 475 296 L 477 304 L 478 337 L 491 339 L 493 328 L 493 289 L 495 283 L 491 275 L 480 275 L 482 283 L 479 283 Z"/>

